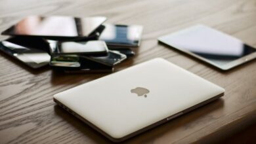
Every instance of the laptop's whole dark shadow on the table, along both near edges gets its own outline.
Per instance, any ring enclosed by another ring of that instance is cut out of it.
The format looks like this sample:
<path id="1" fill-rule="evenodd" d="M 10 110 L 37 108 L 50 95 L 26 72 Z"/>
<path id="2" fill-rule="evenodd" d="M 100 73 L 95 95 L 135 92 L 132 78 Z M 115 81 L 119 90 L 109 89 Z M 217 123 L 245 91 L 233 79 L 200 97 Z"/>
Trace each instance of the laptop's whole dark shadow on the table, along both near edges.
<path id="1" fill-rule="evenodd" d="M 197 124 L 198 119 L 204 118 L 205 115 L 217 111 L 218 109 L 222 109 L 224 106 L 223 99 L 217 99 L 205 106 L 202 106 L 194 111 L 186 113 L 181 117 L 175 118 L 157 126 L 156 128 L 152 128 L 152 130 L 148 130 L 139 134 L 131 139 L 127 139 L 122 143 L 150 143 L 150 141 L 154 141 L 161 135 L 165 135 L 170 131 L 177 130 L 179 128 L 182 129 L 190 129 L 200 124 Z M 72 126 L 74 126 L 77 130 L 82 132 L 86 137 L 89 137 L 91 141 L 95 141 L 95 143 L 112 143 L 112 141 L 108 140 L 106 137 L 101 135 L 100 133 L 96 132 L 93 128 L 89 127 L 87 124 L 75 118 L 73 115 L 59 107 L 58 105 L 54 106 L 54 111 L 56 115 L 62 117 Z M 200 120 L 199 120 L 200 121 Z M 183 135 L 184 136 L 184 135 Z"/>

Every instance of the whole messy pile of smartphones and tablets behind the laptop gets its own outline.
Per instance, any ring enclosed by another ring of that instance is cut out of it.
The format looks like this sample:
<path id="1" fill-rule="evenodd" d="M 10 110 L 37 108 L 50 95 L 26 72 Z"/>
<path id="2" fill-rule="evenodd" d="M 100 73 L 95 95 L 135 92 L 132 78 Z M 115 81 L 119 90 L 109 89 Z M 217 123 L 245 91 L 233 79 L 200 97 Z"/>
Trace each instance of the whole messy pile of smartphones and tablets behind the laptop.
<path id="1" fill-rule="evenodd" d="M 103 24 L 105 17 L 29 16 L 3 31 L 12 37 L 0 50 L 38 68 L 50 65 L 66 73 L 113 71 L 133 56 L 142 26 Z"/>

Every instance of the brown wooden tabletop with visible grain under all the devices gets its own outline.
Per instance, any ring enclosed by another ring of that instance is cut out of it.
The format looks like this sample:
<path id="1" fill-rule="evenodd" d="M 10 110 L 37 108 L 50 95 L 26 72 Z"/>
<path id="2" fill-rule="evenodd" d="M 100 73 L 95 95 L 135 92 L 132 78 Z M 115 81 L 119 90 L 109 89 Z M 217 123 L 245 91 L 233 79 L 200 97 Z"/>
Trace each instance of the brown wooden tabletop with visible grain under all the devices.
<path id="1" fill-rule="evenodd" d="M 142 25 L 137 55 L 116 71 L 161 57 L 226 89 L 223 98 L 125 143 L 215 142 L 256 121 L 255 61 L 222 72 L 157 41 L 161 35 L 205 24 L 256 46 L 255 0 L 0 0 L 0 31 L 32 14 L 106 16 L 108 23 Z M 53 102 L 53 94 L 109 73 L 33 70 L 3 53 L 0 67 L 0 143 L 111 143 Z"/>

